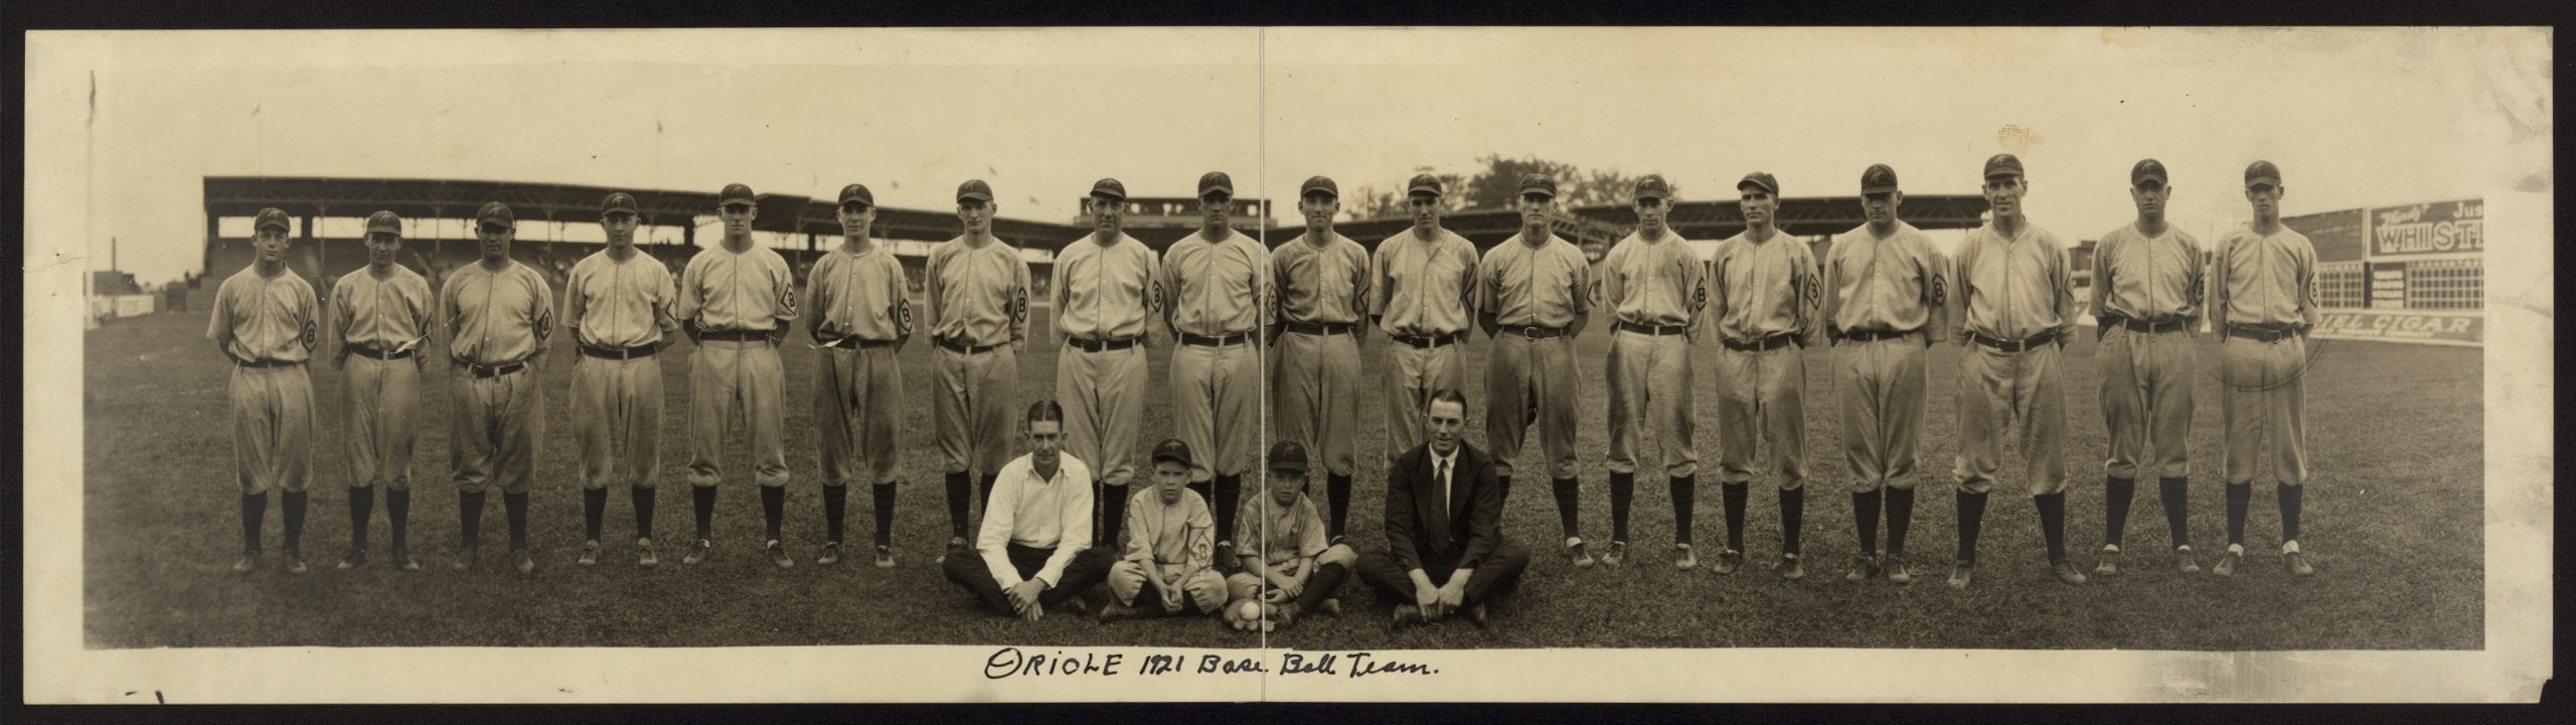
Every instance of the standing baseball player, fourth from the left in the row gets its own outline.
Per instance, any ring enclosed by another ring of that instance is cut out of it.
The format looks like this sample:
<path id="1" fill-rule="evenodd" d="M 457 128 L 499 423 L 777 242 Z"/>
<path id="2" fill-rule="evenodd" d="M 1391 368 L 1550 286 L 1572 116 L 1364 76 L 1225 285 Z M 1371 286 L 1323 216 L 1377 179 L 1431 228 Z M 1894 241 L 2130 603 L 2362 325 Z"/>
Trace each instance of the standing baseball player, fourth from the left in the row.
<path id="1" fill-rule="evenodd" d="M 636 565 L 657 565 L 652 550 L 654 490 L 662 480 L 662 364 L 654 359 L 680 320 L 670 268 L 636 250 L 636 199 L 600 199 L 608 248 L 572 266 L 564 281 L 564 328 L 580 348 L 572 356 L 572 439 L 582 441 L 582 557 L 600 562 L 600 516 L 608 482 L 623 482 L 636 508 Z"/>

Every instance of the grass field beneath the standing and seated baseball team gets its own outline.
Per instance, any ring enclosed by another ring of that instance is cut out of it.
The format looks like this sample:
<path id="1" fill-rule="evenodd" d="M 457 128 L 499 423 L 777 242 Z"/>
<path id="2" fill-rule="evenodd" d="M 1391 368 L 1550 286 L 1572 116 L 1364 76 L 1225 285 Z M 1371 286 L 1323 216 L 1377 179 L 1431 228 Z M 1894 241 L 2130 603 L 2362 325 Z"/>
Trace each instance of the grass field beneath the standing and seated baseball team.
<path id="1" fill-rule="evenodd" d="M 211 286 L 209 286 L 211 292 Z M 198 294 L 193 310 L 206 310 Z M 569 359 L 556 351 L 546 377 L 546 441 L 531 506 L 538 575 L 523 581 L 502 557 L 484 557 L 474 573 L 446 570 L 456 547 L 456 495 L 446 480 L 451 395 L 443 377 L 425 379 L 425 421 L 412 467 L 412 547 L 422 573 L 384 565 L 386 524 L 379 503 L 376 562 L 355 573 L 330 570 L 348 544 L 345 464 L 340 426 L 340 374 L 314 366 L 319 462 L 304 534 L 312 575 L 278 570 L 278 513 L 268 521 L 268 560 L 260 573 L 232 575 L 240 547 L 237 488 L 227 433 L 227 364 L 204 341 L 204 312 L 147 315 L 90 330 L 85 341 L 85 640 L 90 648 L 245 648 L 245 645 L 1185 645 L 1255 648 L 1255 635 L 1213 622 L 1097 624 L 1046 617 L 1036 624 L 971 609 L 971 599 L 940 578 L 930 557 L 945 542 L 945 506 L 935 449 L 930 446 L 930 348 L 904 353 L 904 488 L 896 513 L 894 570 L 866 565 L 868 498 L 853 495 L 850 542 L 860 544 L 840 568 L 811 565 L 822 539 L 822 495 L 814 459 L 811 405 L 814 353 L 783 348 L 788 372 L 788 521 L 793 570 L 775 570 L 760 555 L 760 506 L 734 454 L 716 511 L 716 557 L 677 565 L 677 542 L 690 529 L 680 477 L 688 457 L 685 395 L 688 348 L 665 353 L 665 493 L 659 531 L 665 565 L 634 568 L 618 547 L 631 531 L 623 495 L 611 495 L 600 568 L 574 568 L 580 550 L 580 495 L 574 441 L 567 421 Z M 1041 320 L 1043 328 L 1043 320 Z M 1605 330 L 1595 325 L 1595 330 Z M 2069 426 L 2069 550 L 2089 568 L 2102 537 L 2102 421 L 2092 335 L 2066 353 Z M 1605 335 L 1584 335 L 1582 462 L 1584 529 L 1605 539 L 1610 529 L 1605 449 Z M 2213 361 L 2215 343 L 2202 343 Z M 1373 361 L 1383 338 L 1363 359 Z M 1468 346 L 1468 390 L 1481 397 L 1484 341 Z M 1785 583 L 1767 573 L 1777 557 L 1775 493 L 1754 485 L 1749 506 L 1749 562 L 1739 575 L 1677 573 L 1667 550 L 1669 498 L 1659 480 L 1638 482 L 1628 568 L 1574 570 L 1556 552 L 1556 508 L 1543 480 L 1515 485 L 1504 529 L 1533 550 L 1520 593 L 1494 609 L 1494 630 L 1468 624 L 1388 632 L 1383 606 L 1358 581 L 1342 599 L 1342 619 L 1301 619 L 1273 632 L 1267 645 L 1298 650 L 1334 648 L 2120 648 L 2120 650 L 2416 650 L 2483 645 L 2481 544 L 2481 351 L 2393 343 L 2326 343 L 2308 377 L 2313 482 L 2303 519 L 2303 544 L 2318 565 L 2313 581 L 2280 570 L 2272 490 L 2257 490 L 2246 524 L 2246 570 L 2236 581 L 2184 578 L 2156 565 L 2164 519 L 2154 485 L 2143 485 L 2130 513 L 2133 573 L 2110 583 L 2069 588 L 2048 578 L 2035 513 L 2020 488 L 2017 457 L 2007 454 L 2007 480 L 1996 485 L 1976 586 L 1940 586 L 1955 542 L 1947 462 L 1955 452 L 1955 353 L 1932 356 L 1932 410 L 1927 413 L 1924 477 L 1917 506 L 1914 560 L 1929 578 L 1911 586 L 1842 581 L 1855 552 L 1839 421 L 1832 405 L 1826 353 L 1808 353 L 1806 511 L 1808 581 Z M 1023 400 L 1051 395 L 1056 348 L 1036 346 L 1020 359 Z M 1170 433 L 1162 387 L 1167 353 L 1157 348 L 1154 387 L 1141 446 Z M 2218 485 L 2218 382 L 2208 377 L 2192 428 L 2192 537 L 2202 565 L 2223 547 Z M 1716 462 L 1716 395 L 1703 369 L 1700 459 Z M 1363 467 L 1378 457 L 1373 441 L 1383 421 L 1370 400 L 1363 413 Z M 1471 405 L 1468 439 L 1481 444 L 1481 400 Z M 1525 464 L 1535 464 L 1535 452 Z M 1247 493 L 1252 482 L 1247 480 Z M 1383 477 L 1363 470 L 1352 503 L 1352 544 L 1383 542 L 1378 501 Z M 1314 490 L 1321 498 L 1321 485 Z M 497 495 L 495 495 L 497 498 Z M 500 552 L 505 526 L 489 503 L 484 542 Z M 276 506 L 270 506 L 276 508 Z M 1703 472 L 1698 542 L 1723 544 L 1716 477 Z M 1600 550 L 1595 550 L 1600 552 Z"/>

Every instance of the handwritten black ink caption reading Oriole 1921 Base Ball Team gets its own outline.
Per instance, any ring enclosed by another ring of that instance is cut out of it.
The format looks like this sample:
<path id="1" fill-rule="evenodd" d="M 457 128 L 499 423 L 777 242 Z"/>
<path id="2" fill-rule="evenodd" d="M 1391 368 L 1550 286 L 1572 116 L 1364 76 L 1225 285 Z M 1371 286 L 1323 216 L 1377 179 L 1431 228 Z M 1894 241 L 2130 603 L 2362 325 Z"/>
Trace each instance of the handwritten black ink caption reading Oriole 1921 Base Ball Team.
<path id="1" fill-rule="evenodd" d="M 1273 653 L 1273 655 L 1157 655 L 1157 653 L 1030 653 L 999 648 L 984 658 L 984 679 L 1041 676 L 1170 676 L 1170 673 L 1280 673 L 1280 676 L 1432 676 L 1440 668 L 1376 653 Z"/>

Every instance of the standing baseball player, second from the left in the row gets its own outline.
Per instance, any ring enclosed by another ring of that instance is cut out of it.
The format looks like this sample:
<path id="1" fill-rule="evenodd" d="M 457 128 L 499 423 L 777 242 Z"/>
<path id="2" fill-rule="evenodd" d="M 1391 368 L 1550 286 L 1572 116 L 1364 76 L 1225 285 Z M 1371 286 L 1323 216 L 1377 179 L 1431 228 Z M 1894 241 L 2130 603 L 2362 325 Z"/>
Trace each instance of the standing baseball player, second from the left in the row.
<path id="1" fill-rule="evenodd" d="M 402 253 L 402 217 L 366 217 L 366 266 L 340 276 L 330 299 L 332 369 L 345 372 L 348 410 L 348 557 L 340 568 L 366 565 L 366 529 L 384 485 L 384 513 L 394 526 L 394 568 L 420 570 L 412 560 L 412 444 L 420 439 L 420 353 L 430 338 L 430 281 L 394 258 Z M 358 366 L 350 369 L 350 353 Z"/>

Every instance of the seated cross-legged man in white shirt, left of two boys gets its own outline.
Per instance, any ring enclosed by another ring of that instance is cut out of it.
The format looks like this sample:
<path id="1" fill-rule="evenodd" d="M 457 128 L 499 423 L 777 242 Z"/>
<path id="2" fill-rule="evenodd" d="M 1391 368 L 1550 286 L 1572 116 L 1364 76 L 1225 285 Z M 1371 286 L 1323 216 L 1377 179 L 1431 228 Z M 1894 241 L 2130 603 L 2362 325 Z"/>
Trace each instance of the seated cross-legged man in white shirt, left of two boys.
<path id="1" fill-rule="evenodd" d="M 1028 405 L 1028 454 L 994 475 L 974 557 L 948 557 L 948 581 L 987 609 L 1036 622 L 1048 606 L 1082 609 L 1115 555 L 1092 550 L 1092 470 L 1064 454 L 1064 405 Z"/>

